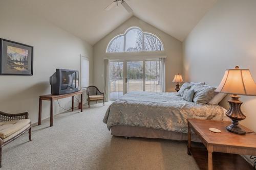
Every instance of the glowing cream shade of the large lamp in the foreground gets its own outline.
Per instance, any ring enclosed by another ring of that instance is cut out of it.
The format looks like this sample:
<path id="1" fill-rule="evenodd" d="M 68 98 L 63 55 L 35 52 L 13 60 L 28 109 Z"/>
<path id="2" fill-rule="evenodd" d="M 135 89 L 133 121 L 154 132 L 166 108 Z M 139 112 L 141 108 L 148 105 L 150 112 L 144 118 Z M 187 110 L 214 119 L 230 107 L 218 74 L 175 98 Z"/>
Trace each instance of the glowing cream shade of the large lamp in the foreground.
<path id="1" fill-rule="evenodd" d="M 221 93 L 256 95 L 256 84 L 251 77 L 249 69 L 227 69 L 218 88 Z"/>

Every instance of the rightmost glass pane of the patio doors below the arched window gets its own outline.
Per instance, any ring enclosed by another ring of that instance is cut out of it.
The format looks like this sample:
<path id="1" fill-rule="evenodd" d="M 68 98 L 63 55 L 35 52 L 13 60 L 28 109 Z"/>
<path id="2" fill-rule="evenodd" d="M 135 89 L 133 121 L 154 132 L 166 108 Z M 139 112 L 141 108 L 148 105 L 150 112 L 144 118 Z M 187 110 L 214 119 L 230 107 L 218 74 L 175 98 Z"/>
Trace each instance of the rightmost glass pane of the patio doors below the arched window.
<path id="1" fill-rule="evenodd" d="M 160 92 L 159 61 L 145 61 L 145 91 Z"/>

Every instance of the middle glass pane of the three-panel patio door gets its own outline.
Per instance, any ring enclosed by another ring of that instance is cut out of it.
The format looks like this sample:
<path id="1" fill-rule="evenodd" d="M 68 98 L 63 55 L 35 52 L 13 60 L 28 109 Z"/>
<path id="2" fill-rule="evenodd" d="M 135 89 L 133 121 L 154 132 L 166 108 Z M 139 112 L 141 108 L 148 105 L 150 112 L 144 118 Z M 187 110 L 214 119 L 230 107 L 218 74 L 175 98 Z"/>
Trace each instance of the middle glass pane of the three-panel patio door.
<path id="1" fill-rule="evenodd" d="M 127 61 L 126 67 L 126 91 L 144 91 L 143 61 Z"/>

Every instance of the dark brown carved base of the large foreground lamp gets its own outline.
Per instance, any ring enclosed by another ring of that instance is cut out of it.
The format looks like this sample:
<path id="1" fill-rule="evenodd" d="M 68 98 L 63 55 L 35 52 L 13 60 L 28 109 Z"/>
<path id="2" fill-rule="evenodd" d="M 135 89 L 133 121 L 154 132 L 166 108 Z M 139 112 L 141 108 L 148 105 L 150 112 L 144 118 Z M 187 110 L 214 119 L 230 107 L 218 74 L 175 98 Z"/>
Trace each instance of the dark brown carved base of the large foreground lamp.
<path id="1" fill-rule="evenodd" d="M 230 95 L 232 98 L 228 100 L 229 110 L 226 115 L 232 120 L 232 124 L 226 127 L 229 132 L 244 135 L 246 132 L 239 126 L 239 121 L 246 118 L 246 116 L 241 111 L 241 105 L 243 102 L 239 100 L 240 96 L 233 94 Z"/>

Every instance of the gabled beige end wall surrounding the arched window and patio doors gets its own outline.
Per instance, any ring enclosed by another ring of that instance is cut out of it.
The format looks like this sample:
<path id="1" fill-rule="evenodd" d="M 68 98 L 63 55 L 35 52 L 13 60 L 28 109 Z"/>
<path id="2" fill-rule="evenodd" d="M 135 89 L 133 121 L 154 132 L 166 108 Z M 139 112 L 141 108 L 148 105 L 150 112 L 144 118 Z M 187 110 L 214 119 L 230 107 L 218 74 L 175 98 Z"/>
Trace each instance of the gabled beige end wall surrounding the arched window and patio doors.
<path id="1" fill-rule="evenodd" d="M 130 27 L 139 27 L 143 32 L 150 32 L 157 35 L 164 44 L 164 52 L 148 53 L 124 53 L 124 54 L 106 54 L 106 47 L 112 38 L 119 34 L 123 34 Z M 175 83 L 172 83 L 174 75 L 182 72 L 182 43 L 172 36 L 158 30 L 148 23 L 133 16 L 122 23 L 110 34 L 106 35 L 93 46 L 93 83 L 100 90 L 104 90 L 104 57 L 118 56 L 119 58 L 150 56 L 150 55 L 166 55 L 166 91 L 175 91 Z"/>

